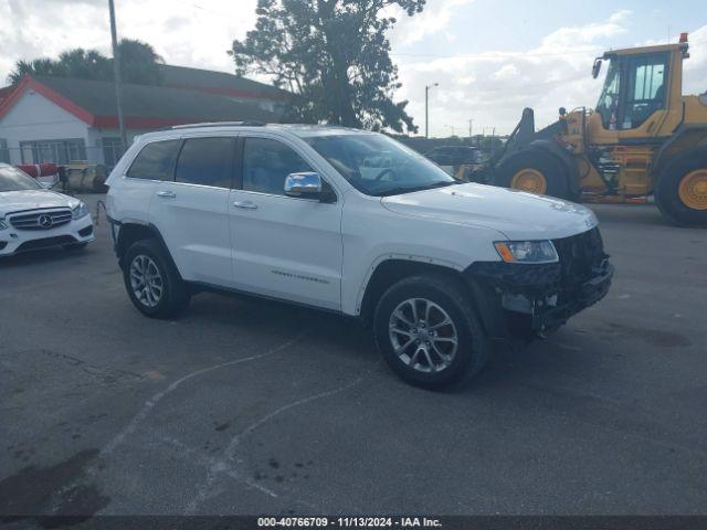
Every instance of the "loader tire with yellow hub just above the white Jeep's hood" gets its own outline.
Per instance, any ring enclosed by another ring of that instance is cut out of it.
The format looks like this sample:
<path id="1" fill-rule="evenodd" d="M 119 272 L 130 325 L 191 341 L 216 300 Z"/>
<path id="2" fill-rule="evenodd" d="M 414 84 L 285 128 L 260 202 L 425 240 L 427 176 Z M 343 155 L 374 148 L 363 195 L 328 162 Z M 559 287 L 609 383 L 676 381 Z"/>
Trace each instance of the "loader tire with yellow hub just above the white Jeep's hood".
<path id="1" fill-rule="evenodd" d="M 494 184 L 559 199 L 570 199 L 562 165 L 540 149 L 511 155 L 496 169 Z"/>

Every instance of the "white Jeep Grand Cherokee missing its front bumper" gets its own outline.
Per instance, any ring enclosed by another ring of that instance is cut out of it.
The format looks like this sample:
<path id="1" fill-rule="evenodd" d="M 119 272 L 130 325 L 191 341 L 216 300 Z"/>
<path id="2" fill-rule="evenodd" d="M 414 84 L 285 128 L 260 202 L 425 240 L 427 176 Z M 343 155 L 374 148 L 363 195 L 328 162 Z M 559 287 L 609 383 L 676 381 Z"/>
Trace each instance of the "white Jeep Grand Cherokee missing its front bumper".
<path id="1" fill-rule="evenodd" d="M 107 184 L 145 315 L 215 288 L 360 317 L 424 386 L 477 373 L 494 339 L 557 329 L 611 283 L 590 210 L 460 183 L 374 132 L 180 126 L 137 139 Z"/>

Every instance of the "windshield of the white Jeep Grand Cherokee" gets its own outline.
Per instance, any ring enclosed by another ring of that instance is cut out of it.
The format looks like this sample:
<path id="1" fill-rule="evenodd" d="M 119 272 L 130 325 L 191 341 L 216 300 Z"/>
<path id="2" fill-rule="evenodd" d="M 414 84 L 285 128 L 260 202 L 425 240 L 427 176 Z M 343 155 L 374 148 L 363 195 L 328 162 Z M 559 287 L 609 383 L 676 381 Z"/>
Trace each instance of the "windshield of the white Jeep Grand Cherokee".
<path id="1" fill-rule="evenodd" d="M 305 141 L 367 195 L 394 195 L 456 183 L 422 155 L 383 135 L 314 136 Z"/>

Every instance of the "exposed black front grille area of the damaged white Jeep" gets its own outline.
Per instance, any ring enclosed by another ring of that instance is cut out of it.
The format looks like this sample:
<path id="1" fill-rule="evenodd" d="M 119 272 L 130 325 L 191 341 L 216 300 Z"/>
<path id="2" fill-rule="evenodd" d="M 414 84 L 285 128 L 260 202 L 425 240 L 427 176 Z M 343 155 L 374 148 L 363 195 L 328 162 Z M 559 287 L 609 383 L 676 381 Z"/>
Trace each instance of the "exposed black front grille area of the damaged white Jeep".
<path id="1" fill-rule="evenodd" d="M 609 257 L 604 254 L 604 244 L 597 227 L 570 237 L 552 240 L 552 243 L 560 257 L 561 283 L 564 287 L 576 286 L 591 278 L 593 269 Z"/>

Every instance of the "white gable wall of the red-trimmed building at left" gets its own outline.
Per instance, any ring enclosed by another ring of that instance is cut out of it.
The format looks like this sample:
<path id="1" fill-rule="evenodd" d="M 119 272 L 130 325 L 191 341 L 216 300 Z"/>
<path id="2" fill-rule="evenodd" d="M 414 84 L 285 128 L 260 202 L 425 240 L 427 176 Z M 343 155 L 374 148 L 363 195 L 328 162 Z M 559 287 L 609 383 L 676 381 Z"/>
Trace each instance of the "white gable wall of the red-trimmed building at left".
<path id="1" fill-rule="evenodd" d="M 88 126 L 44 96 L 28 89 L 4 117 L 0 118 L 0 138 L 8 141 L 12 163 L 22 161 L 20 141 L 82 138 L 89 156 Z M 103 157 L 101 155 L 101 157 Z"/>

